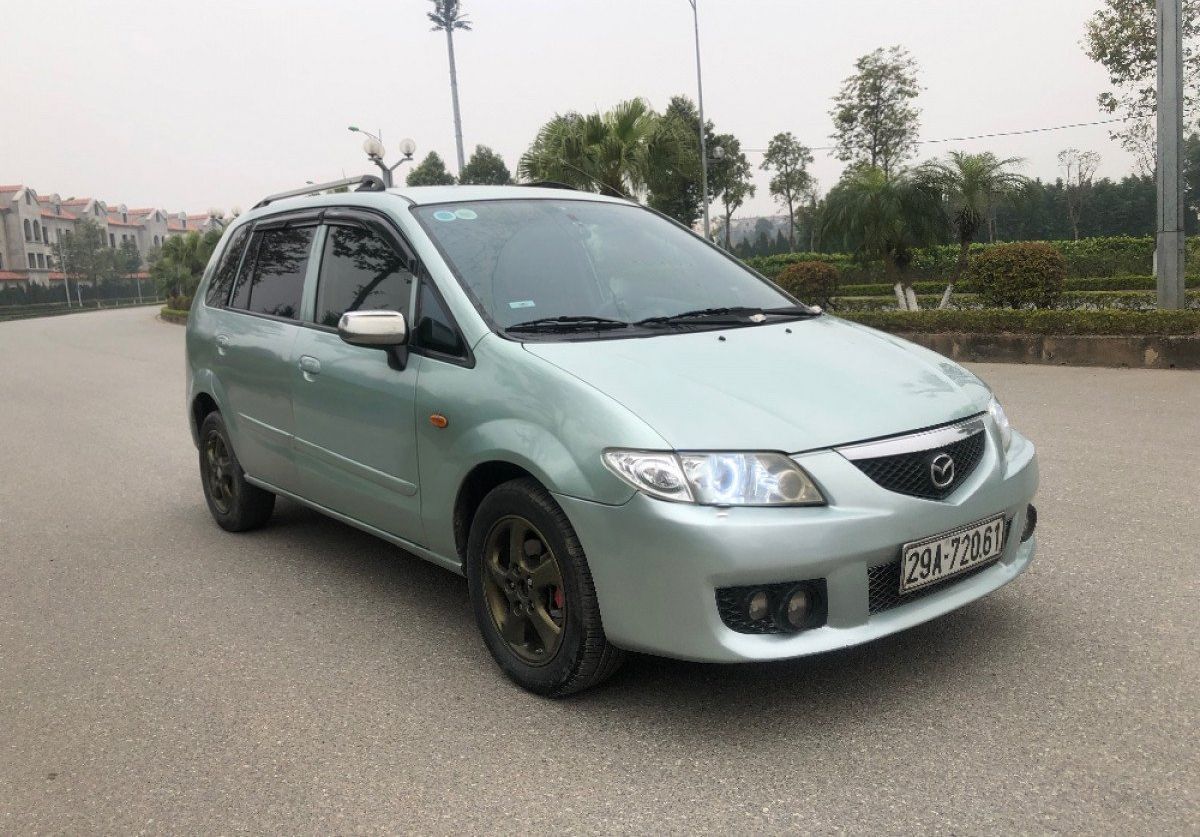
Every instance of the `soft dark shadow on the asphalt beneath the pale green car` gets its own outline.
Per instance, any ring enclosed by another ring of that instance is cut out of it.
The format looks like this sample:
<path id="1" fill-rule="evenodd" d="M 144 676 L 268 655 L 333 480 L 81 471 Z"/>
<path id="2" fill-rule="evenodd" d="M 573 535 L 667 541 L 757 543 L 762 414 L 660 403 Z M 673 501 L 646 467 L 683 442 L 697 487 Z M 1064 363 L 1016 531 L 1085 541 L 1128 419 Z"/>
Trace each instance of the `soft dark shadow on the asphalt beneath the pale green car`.
<path id="1" fill-rule="evenodd" d="M 394 622 L 397 634 L 420 632 L 433 655 L 478 661 L 474 676 L 488 682 L 472 685 L 472 692 L 502 690 L 510 701 L 540 700 L 492 664 L 462 577 L 294 502 L 281 501 L 260 536 L 302 544 L 284 550 L 288 560 L 316 574 L 323 588 L 343 588 L 356 612 Z M 728 724 L 761 730 L 883 712 L 943 685 L 956 688 L 962 679 L 1015 676 L 1020 657 L 1007 651 L 1025 643 L 1027 616 L 1021 597 L 1002 589 L 901 633 L 811 657 L 710 664 L 631 654 L 610 682 L 560 705 L 576 716 L 622 713 L 670 723 L 685 736 Z"/>

